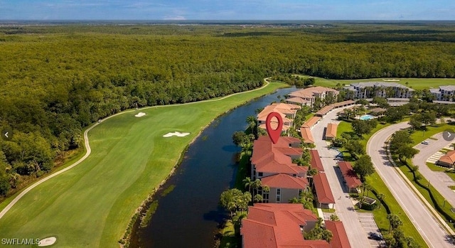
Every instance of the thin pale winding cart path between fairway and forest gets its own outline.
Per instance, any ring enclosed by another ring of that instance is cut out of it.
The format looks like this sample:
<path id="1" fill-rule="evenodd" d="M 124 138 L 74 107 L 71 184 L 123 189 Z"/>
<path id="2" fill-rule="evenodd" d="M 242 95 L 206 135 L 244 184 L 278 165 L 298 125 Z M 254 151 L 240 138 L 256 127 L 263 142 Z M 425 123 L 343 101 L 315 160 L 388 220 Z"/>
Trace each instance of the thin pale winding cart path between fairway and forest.
<path id="1" fill-rule="evenodd" d="M 269 86 L 269 78 L 270 77 L 267 77 L 267 78 L 264 78 L 264 82 L 265 82 L 265 85 L 263 85 L 262 87 L 259 87 L 257 89 L 254 89 L 254 90 L 249 90 L 249 91 L 245 91 L 245 92 L 237 92 L 237 93 L 234 93 L 234 94 L 231 94 L 231 95 L 227 95 L 225 97 L 220 97 L 220 98 L 217 98 L 217 99 L 208 99 L 208 100 L 204 100 L 204 101 L 199 101 L 199 102 L 215 102 L 215 101 L 220 101 L 220 100 L 223 100 L 223 99 L 226 99 L 228 97 L 232 97 L 232 96 L 235 96 L 235 95 L 240 95 L 240 94 L 244 94 L 244 93 L 247 93 L 247 92 L 254 92 L 254 91 L 257 91 L 257 90 L 262 90 L 264 89 L 265 87 Z M 169 106 L 176 106 L 176 105 L 187 105 L 187 104 L 196 104 L 196 103 L 199 103 L 199 102 L 186 102 L 186 103 L 182 103 L 182 104 L 170 104 L 170 105 L 159 105 L 159 106 L 151 106 L 151 107 L 144 107 L 144 108 L 141 108 L 141 109 L 151 109 L 151 108 L 157 108 L 157 107 L 169 107 Z M 140 110 L 140 109 L 139 109 Z M 115 117 L 119 114 L 125 114 L 125 113 L 129 113 L 129 112 L 135 112 L 136 110 L 134 109 L 130 109 L 130 110 L 127 110 L 127 111 L 124 111 L 124 112 L 119 112 L 117 114 L 113 114 L 111 115 L 110 117 L 106 117 L 105 119 L 103 119 L 103 121 L 107 120 L 107 119 L 110 119 L 112 117 Z M 95 128 L 95 126 L 98 126 L 100 123 L 95 123 L 93 124 L 92 126 L 90 126 L 88 129 L 86 129 L 84 131 L 84 145 L 85 145 L 85 149 L 87 150 L 85 152 L 85 155 L 82 156 L 82 158 L 80 158 L 78 161 L 76 161 L 75 163 L 73 163 L 72 165 L 68 166 L 67 168 L 64 168 L 60 171 L 57 171 L 53 174 L 50 174 L 49 176 L 46 176 L 45 178 L 41 179 L 41 180 L 38 180 L 36 183 L 33 183 L 31 186 L 29 186 L 28 188 L 26 188 L 25 190 L 23 190 L 20 194 L 18 194 L 16 196 L 16 198 L 14 198 L 11 203 L 9 203 L 8 205 L 6 205 L 6 207 L 4 207 L 3 210 L 1 210 L 0 212 L 0 219 L 1 217 L 3 217 L 4 215 L 6 215 L 6 212 L 8 212 L 11 207 L 13 207 L 17 202 L 18 200 L 21 200 L 21 198 L 23 198 L 24 195 L 26 195 L 28 192 L 30 192 L 31 190 L 33 190 L 33 188 L 36 188 L 36 186 L 40 185 L 41 183 L 44 183 L 45 181 L 49 180 L 50 178 L 53 178 L 55 176 L 58 176 L 60 175 L 61 173 L 64 173 L 65 171 L 69 171 L 70 169 L 74 168 L 75 166 L 79 165 L 80 163 L 82 163 L 82 161 L 85 161 L 86 158 L 88 158 L 88 156 L 90 156 L 90 153 L 92 153 L 92 149 L 90 148 L 90 144 L 89 144 L 89 139 L 88 139 L 88 132 L 90 130 L 92 130 L 93 128 Z"/>

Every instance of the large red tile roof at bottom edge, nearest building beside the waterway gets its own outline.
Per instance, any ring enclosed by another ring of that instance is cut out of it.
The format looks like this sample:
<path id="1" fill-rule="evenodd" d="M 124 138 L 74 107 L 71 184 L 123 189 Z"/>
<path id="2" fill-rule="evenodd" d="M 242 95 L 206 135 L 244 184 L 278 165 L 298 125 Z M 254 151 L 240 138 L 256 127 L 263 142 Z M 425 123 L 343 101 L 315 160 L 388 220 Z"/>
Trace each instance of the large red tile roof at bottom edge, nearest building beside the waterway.
<path id="1" fill-rule="evenodd" d="M 324 240 L 305 240 L 300 227 L 317 217 L 301 204 L 258 203 L 248 207 L 248 216 L 242 220 L 244 248 L 308 247 L 330 248 Z M 308 231 L 308 230 L 305 230 Z"/>

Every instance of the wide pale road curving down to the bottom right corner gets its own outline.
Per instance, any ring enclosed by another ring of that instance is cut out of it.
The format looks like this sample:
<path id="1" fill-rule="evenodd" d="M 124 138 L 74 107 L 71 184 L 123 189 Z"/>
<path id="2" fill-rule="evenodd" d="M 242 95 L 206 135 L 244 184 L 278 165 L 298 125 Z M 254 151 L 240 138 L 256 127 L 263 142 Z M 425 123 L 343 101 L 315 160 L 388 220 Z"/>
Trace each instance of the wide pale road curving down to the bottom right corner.
<path id="1" fill-rule="evenodd" d="M 425 239 L 429 247 L 454 247 L 449 242 L 449 234 L 439 224 L 432 212 L 422 203 L 405 180 L 397 173 L 385 153 L 385 142 L 400 129 L 408 127 L 407 122 L 387 126 L 373 134 L 367 144 L 367 153 L 371 156 L 379 176 L 384 180 L 395 199 L 400 203 L 407 216 Z"/>

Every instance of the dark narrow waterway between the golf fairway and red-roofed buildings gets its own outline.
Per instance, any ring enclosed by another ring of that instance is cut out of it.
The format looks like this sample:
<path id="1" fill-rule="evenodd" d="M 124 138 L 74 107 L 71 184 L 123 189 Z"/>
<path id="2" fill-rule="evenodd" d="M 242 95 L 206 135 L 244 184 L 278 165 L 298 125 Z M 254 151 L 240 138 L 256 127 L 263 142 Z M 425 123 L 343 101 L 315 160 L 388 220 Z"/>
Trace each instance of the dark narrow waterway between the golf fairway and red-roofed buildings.
<path id="1" fill-rule="evenodd" d="M 130 247 L 212 248 L 217 226 L 227 217 L 218 200 L 223 190 L 232 187 L 237 173 L 235 156 L 240 149 L 232 143 L 232 134 L 245 130 L 245 119 L 255 115 L 256 109 L 292 91 L 295 88 L 278 90 L 210 124 L 190 146 L 176 173 L 156 193 L 156 212 L 147 227 L 133 234 Z"/>

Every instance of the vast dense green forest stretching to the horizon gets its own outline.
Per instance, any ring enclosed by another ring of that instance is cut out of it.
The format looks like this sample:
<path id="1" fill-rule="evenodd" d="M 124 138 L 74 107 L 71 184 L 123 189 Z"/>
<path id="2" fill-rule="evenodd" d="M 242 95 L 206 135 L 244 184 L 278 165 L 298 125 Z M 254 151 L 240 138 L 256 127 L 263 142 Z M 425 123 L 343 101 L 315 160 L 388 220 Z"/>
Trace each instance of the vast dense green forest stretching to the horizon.
<path id="1" fill-rule="evenodd" d="M 123 109 L 193 102 L 299 73 L 455 77 L 454 23 L 0 26 L 0 197 Z"/>

